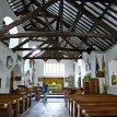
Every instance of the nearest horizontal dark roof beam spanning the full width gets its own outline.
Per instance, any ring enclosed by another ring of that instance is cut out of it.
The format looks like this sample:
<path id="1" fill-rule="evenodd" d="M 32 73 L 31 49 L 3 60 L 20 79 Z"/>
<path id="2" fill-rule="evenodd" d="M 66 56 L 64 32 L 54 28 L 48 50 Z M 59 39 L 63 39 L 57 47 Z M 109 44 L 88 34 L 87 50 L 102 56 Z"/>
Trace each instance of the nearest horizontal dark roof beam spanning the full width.
<path id="1" fill-rule="evenodd" d="M 26 33 L 17 33 L 17 34 L 2 34 L 1 38 L 21 38 L 21 37 L 58 37 L 58 36 L 77 36 L 77 37 L 100 37 L 105 39 L 117 38 L 116 34 L 98 34 L 98 33 L 75 33 L 75 32 L 26 32 Z"/>

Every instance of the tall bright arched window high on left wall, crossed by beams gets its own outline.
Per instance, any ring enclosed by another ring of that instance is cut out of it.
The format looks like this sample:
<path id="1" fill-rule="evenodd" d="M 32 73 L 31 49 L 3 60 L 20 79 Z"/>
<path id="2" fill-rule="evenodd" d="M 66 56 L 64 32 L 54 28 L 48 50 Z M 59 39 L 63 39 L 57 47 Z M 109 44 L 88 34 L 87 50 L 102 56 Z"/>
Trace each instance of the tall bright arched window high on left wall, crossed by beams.
<path id="1" fill-rule="evenodd" d="M 3 25 L 9 25 L 9 24 L 12 23 L 12 22 L 13 22 L 13 20 L 12 20 L 10 16 L 5 16 L 5 17 L 3 19 Z M 17 33 L 16 26 L 13 27 L 13 28 L 11 28 L 11 30 L 9 31 L 9 33 L 10 33 L 10 34 L 16 34 L 16 33 Z M 15 47 L 17 44 L 19 44 L 19 38 L 10 38 L 10 43 L 9 43 L 9 47 L 10 47 L 10 48 Z"/>

